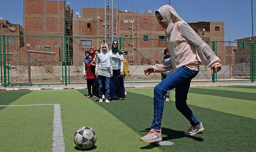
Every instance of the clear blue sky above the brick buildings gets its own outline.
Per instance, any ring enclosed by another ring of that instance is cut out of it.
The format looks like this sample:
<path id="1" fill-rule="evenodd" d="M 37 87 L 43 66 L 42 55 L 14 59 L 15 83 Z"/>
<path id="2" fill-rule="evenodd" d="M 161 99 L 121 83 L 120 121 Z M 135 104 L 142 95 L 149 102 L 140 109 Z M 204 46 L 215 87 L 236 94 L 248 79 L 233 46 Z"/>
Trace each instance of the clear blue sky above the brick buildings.
<path id="1" fill-rule="evenodd" d="M 80 13 L 80 7 L 104 8 L 104 0 L 66 0 L 71 9 Z M 111 0 L 110 0 L 111 2 Z M 253 0 L 254 36 L 256 35 L 256 0 Z M 155 12 L 169 0 L 114 0 L 120 11 Z M 251 0 L 171 0 L 170 5 L 186 22 L 217 21 L 225 23 L 225 41 L 252 36 Z M 23 0 L 0 0 L 0 17 L 13 24 L 23 25 Z"/>

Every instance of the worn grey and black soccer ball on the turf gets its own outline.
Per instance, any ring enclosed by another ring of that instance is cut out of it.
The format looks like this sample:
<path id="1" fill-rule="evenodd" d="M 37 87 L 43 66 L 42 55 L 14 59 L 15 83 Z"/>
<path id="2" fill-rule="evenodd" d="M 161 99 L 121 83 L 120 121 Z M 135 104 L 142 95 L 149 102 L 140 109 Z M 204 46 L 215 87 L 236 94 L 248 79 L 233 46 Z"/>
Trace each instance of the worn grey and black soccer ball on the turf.
<path id="1" fill-rule="evenodd" d="M 97 140 L 95 131 L 90 127 L 81 127 L 77 129 L 74 135 L 74 142 L 80 149 L 91 148 Z"/>

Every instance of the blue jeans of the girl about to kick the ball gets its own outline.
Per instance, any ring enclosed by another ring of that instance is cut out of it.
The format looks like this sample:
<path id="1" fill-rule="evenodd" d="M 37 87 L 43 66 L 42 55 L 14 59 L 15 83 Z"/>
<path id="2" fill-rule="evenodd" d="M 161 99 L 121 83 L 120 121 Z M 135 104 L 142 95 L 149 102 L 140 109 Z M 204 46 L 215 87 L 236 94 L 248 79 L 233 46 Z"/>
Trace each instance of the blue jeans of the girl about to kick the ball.
<path id="1" fill-rule="evenodd" d="M 164 95 L 168 90 L 175 88 L 176 108 L 188 119 L 194 127 L 200 125 L 200 121 L 187 105 L 187 94 L 191 79 L 198 74 L 198 71 L 191 71 L 186 66 L 180 67 L 170 76 L 165 78 L 154 88 L 154 117 L 151 128 L 161 130 L 161 121 L 164 110 Z"/>

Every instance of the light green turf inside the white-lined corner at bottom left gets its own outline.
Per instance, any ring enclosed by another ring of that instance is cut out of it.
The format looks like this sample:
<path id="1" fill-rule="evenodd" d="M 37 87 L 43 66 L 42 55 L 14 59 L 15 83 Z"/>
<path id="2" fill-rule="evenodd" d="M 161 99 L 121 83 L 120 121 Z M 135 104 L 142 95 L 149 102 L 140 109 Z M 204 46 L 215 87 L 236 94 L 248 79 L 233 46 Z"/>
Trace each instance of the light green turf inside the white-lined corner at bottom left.
<path id="1" fill-rule="evenodd" d="M 51 151 L 53 105 L 5 107 L 0 120 L 0 151 Z"/>

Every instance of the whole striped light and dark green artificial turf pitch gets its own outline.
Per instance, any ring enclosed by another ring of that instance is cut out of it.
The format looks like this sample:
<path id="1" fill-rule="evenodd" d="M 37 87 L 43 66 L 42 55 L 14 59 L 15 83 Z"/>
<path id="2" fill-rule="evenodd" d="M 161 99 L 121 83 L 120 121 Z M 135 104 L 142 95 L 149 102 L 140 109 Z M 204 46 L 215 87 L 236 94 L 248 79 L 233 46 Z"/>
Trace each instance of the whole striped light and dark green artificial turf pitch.
<path id="1" fill-rule="evenodd" d="M 60 104 L 68 152 L 80 151 L 75 147 L 73 135 L 82 126 L 92 127 L 97 133 L 97 142 L 90 151 L 254 152 L 254 90 L 251 86 L 191 87 L 187 102 L 205 128 L 195 136 L 184 135 L 190 124 L 175 108 L 175 91 L 171 91 L 171 101 L 165 102 L 161 127 L 163 140 L 174 142 L 172 146 L 139 140 L 147 134 L 152 123 L 153 88 L 127 88 L 128 95 L 124 100 L 110 103 L 87 98 L 87 90 L 0 91 L 1 96 L 8 96 L 10 100 L 2 99 L 0 104 Z M 6 107 L 0 110 L 0 117 L 1 151 L 16 152 L 17 147 L 18 151 L 24 152 L 51 151 L 53 105 Z M 40 141 L 31 135 L 36 130 Z M 9 146 L 9 143 L 15 146 Z"/>

